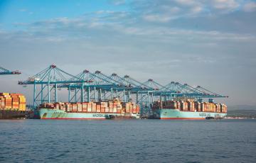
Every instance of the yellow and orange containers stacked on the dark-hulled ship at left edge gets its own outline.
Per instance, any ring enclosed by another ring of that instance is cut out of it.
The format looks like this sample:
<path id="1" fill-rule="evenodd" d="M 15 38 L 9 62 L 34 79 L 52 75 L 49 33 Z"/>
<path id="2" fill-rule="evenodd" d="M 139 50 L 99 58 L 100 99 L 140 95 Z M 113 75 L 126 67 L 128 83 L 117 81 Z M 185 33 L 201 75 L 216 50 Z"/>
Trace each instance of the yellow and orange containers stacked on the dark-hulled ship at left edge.
<path id="1" fill-rule="evenodd" d="M 1 110 L 26 111 L 26 98 L 23 94 L 0 93 Z"/>

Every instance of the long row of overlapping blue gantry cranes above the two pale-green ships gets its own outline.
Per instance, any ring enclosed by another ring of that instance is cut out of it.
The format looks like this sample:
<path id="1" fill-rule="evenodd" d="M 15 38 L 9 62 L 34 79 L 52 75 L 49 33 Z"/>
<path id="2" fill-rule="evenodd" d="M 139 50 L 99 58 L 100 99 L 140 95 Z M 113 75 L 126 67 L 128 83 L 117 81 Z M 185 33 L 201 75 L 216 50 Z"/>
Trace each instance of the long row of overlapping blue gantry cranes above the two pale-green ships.
<path id="1" fill-rule="evenodd" d="M 92 73 L 87 69 L 74 76 L 53 64 L 26 81 L 18 81 L 18 84 L 33 85 L 34 108 L 41 103 L 58 102 L 58 89 L 68 90 L 68 102 L 107 101 L 114 98 L 124 102 L 136 101 L 142 108 L 142 114 L 151 113 L 154 101 L 167 101 L 178 97 L 198 101 L 228 97 L 209 91 L 203 86 L 193 87 L 175 81 L 164 86 L 153 79 L 140 82 L 129 75 L 120 77 L 113 73 L 107 76 L 100 71 Z"/>

